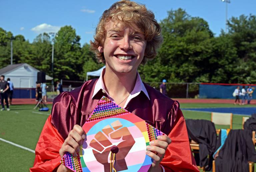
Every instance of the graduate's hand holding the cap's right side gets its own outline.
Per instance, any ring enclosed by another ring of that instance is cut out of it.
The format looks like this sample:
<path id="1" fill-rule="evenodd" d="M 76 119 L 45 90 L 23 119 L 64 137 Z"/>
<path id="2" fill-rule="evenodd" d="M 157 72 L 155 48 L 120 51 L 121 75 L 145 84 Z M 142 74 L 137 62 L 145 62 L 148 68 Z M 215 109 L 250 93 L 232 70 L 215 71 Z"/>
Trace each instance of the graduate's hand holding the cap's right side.
<path id="1" fill-rule="evenodd" d="M 149 171 L 162 171 L 162 167 L 160 167 L 160 162 L 162 161 L 165 151 L 168 145 L 171 143 L 171 139 L 166 135 L 159 135 L 157 140 L 153 140 L 149 142 L 150 146 L 147 146 L 146 154 L 153 159 L 152 166 Z M 157 154 L 153 153 L 156 152 Z"/>

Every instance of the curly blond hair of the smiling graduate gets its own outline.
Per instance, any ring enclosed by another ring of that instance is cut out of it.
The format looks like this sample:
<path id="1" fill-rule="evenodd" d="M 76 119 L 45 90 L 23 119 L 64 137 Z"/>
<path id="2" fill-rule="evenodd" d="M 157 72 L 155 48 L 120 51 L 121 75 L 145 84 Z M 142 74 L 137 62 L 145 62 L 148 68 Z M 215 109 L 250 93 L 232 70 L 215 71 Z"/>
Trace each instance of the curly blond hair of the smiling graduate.
<path id="1" fill-rule="evenodd" d="M 145 5 L 129 0 L 121 0 L 103 12 L 95 30 L 94 41 L 90 41 L 91 50 L 96 54 L 99 62 L 106 62 L 103 52 L 99 52 L 98 47 L 103 47 L 104 45 L 106 36 L 105 25 L 110 20 L 124 23 L 125 25 L 136 25 L 144 34 L 147 44 L 142 64 L 145 64 L 147 59 L 153 59 L 156 56 L 157 48 L 162 43 L 163 38 L 161 27 L 155 20 L 154 13 L 147 10 Z"/>

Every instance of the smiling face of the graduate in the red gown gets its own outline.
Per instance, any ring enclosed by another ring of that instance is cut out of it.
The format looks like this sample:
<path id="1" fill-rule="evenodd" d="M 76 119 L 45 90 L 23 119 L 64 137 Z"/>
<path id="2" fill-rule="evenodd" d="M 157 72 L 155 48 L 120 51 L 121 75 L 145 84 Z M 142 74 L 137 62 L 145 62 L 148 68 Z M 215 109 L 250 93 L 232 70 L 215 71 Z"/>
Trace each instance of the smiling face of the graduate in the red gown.
<path id="1" fill-rule="evenodd" d="M 104 53 L 106 68 L 115 73 L 136 73 L 147 44 L 144 34 L 135 25 L 123 26 L 113 21 L 106 23 L 105 31 L 104 46 L 98 50 Z"/>

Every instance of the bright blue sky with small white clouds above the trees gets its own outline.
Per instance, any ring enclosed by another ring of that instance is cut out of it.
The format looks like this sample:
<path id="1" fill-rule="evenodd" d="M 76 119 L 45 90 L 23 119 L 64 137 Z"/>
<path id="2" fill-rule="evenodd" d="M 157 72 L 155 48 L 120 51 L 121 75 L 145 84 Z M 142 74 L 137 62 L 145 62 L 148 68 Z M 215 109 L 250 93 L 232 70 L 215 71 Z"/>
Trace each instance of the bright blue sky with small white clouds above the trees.
<path id="1" fill-rule="evenodd" d="M 242 14 L 256 15 L 256 0 L 230 0 L 228 18 Z M 81 44 L 93 39 L 95 27 L 103 11 L 114 0 L 1 0 L 0 27 L 21 34 L 32 42 L 39 33 L 57 32 L 65 25 L 71 25 Z M 155 13 L 158 21 L 167 17 L 167 11 L 185 9 L 192 17 L 206 20 L 216 36 L 225 30 L 226 3 L 221 0 L 138 0 Z"/>

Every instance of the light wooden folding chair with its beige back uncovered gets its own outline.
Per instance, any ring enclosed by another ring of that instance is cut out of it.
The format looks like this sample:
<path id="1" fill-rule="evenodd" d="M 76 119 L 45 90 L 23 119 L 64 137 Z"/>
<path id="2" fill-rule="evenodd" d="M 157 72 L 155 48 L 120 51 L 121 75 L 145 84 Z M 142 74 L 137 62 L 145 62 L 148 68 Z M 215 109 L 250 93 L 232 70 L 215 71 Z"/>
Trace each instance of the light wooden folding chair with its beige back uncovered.
<path id="1" fill-rule="evenodd" d="M 229 129 L 232 129 L 233 114 L 232 113 L 218 113 L 212 112 L 211 121 L 216 125 L 228 125 Z M 220 129 L 216 129 L 217 134 L 219 134 Z"/>

